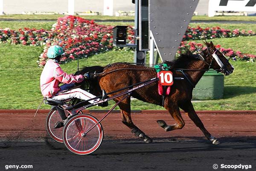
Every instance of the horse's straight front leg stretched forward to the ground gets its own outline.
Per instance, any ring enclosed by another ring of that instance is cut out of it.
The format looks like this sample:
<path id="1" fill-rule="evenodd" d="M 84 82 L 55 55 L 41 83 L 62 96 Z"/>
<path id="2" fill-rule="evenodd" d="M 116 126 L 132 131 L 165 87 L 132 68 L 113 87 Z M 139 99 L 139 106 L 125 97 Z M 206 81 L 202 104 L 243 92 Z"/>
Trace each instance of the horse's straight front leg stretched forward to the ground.
<path id="1" fill-rule="evenodd" d="M 204 133 L 204 136 L 209 139 L 212 144 L 217 145 L 220 142 L 218 139 L 216 139 L 214 136 L 212 136 L 206 128 L 204 128 L 204 124 L 202 123 L 201 119 L 198 117 L 198 115 L 195 112 L 195 109 L 193 107 L 193 104 L 191 101 L 187 101 L 186 103 L 183 103 L 180 105 L 180 108 L 183 109 L 189 116 L 189 118 L 195 123 L 195 125 L 201 129 L 201 131 Z"/>

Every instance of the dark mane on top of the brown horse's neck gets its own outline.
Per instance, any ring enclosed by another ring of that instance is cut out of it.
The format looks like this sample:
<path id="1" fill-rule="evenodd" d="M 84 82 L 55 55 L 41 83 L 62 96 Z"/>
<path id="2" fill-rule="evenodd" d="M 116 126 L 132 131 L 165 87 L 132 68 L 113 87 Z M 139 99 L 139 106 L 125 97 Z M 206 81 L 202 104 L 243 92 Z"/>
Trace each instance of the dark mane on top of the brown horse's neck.
<path id="1" fill-rule="evenodd" d="M 163 63 L 171 68 L 185 68 L 192 60 L 199 60 L 198 55 L 194 55 L 189 49 L 186 49 L 186 52 L 174 61 L 164 61 Z"/>

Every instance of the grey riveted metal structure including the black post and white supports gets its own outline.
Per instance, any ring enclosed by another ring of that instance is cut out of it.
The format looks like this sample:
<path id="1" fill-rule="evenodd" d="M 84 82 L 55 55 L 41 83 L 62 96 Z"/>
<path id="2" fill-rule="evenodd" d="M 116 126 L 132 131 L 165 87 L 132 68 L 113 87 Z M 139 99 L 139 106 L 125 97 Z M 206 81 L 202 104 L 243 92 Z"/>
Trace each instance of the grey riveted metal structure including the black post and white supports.
<path id="1" fill-rule="evenodd" d="M 133 0 L 135 3 L 134 44 L 116 45 L 134 47 L 134 62 L 146 62 L 146 52 L 150 50 L 149 63 L 175 59 L 191 17 L 199 0 Z M 154 49 L 157 58 L 154 58 Z"/>

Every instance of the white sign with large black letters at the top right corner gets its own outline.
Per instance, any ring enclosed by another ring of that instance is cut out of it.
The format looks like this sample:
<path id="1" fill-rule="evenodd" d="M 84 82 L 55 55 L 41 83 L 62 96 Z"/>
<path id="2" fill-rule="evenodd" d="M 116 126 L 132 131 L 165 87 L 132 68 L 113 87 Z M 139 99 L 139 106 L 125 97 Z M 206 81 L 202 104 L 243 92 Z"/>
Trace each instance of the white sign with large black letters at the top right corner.
<path id="1" fill-rule="evenodd" d="M 208 16 L 215 11 L 256 12 L 255 0 L 209 0 Z"/>

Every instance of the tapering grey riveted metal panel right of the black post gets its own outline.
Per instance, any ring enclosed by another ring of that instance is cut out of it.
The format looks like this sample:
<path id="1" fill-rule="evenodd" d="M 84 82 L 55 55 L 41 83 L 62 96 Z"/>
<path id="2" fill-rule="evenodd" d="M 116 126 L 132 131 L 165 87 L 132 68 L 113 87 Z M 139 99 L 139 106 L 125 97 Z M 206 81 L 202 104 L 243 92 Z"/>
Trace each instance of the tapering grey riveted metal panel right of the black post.
<path id="1" fill-rule="evenodd" d="M 198 1 L 149 0 L 149 28 L 151 39 L 154 39 L 151 42 L 154 42 L 162 61 L 174 60 Z M 154 45 L 151 44 L 151 48 Z M 151 59 L 150 63 L 153 61 Z"/>

